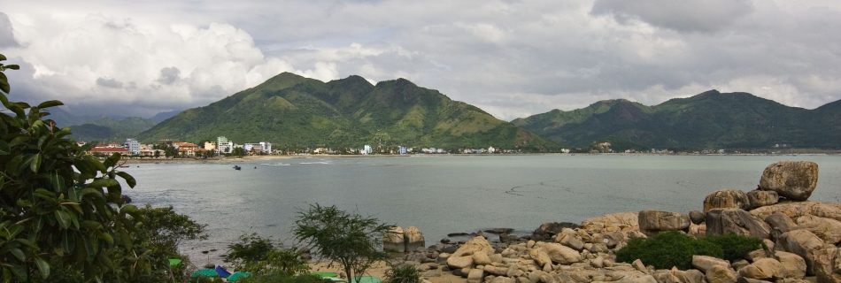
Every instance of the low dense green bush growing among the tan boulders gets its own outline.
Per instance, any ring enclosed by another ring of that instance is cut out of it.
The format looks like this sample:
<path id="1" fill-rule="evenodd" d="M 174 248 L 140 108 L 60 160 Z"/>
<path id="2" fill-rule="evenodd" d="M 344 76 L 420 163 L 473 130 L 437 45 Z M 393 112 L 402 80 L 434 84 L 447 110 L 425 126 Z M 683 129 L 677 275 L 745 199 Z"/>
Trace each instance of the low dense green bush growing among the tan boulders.
<path id="1" fill-rule="evenodd" d="M 692 267 L 692 255 L 721 257 L 723 251 L 712 242 L 698 241 L 687 234 L 670 231 L 646 239 L 631 239 L 628 246 L 616 252 L 616 261 L 630 263 L 638 258 L 643 264 L 652 264 L 657 269 L 676 266 L 685 270 Z"/>

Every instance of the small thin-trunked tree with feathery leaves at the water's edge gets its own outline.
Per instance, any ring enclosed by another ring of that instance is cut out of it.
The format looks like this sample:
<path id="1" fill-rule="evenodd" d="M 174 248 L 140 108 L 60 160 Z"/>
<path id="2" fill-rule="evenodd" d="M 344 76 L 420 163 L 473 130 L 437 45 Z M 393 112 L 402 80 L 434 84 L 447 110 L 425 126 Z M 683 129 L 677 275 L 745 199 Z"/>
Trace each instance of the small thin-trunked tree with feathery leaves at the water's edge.
<path id="1" fill-rule="evenodd" d="M 393 226 L 372 217 L 347 213 L 336 206 L 311 204 L 298 212 L 293 233 L 297 241 L 326 258 L 340 264 L 349 281 L 365 274 L 377 261 L 387 258 L 382 251 L 382 234 Z"/>

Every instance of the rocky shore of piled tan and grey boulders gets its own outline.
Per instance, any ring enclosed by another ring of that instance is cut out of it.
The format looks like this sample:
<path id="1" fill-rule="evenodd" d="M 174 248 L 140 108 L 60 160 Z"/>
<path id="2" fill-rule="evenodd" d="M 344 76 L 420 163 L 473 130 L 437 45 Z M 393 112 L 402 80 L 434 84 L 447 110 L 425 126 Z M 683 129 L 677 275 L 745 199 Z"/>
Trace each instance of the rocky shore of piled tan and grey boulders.
<path id="1" fill-rule="evenodd" d="M 429 247 L 416 227 L 398 227 L 403 237 L 388 236 L 384 246 L 397 252 L 397 264 L 417 266 L 429 282 L 841 282 L 841 204 L 808 201 L 817 180 L 817 164 L 782 161 L 768 165 L 755 190 L 707 195 L 703 210 L 642 210 L 581 225 L 545 223 L 521 237 L 495 229 L 487 233 L 498 233 L 499 241 L 479 232 L 467 241 L 446 238 Z M 767 249 L 732 262 L 693 256 L 694 268 L 688 270 L 616 262 L 615 252 L 630 239 L 664 231 L 696 238 L 737 233 L 762 239 Z"/>

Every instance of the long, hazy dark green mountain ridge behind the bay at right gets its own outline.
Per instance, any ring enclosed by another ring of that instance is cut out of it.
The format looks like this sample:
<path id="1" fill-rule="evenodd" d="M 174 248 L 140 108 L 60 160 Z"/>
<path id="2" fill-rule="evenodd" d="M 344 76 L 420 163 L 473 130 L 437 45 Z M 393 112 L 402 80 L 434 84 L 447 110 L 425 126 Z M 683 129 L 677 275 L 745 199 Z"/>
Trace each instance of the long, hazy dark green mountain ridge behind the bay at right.
<path id="1" fill-rule="evenodd" d="M 536 134 L 586 148 L 608 141 L 624 148 L 841 148 L 841 101 L 815 110 L 789 107 L 747 93 L 710 90 L 655 106 L 627 100 L 593 103 L 515 119 Z"/>

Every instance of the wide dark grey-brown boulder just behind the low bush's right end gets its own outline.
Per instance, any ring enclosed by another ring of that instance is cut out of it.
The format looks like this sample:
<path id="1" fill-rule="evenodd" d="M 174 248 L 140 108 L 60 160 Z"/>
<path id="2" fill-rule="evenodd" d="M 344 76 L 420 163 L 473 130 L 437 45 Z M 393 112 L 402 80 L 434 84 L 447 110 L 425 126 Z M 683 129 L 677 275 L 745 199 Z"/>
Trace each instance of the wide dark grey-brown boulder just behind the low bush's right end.
<path id="1" fill-rule="evenodd" d="M 768 239 L 770 227 L 761 218 L 740 209 L 714 209 L 706 212 L 706 234 L 736 233 Z"/>

